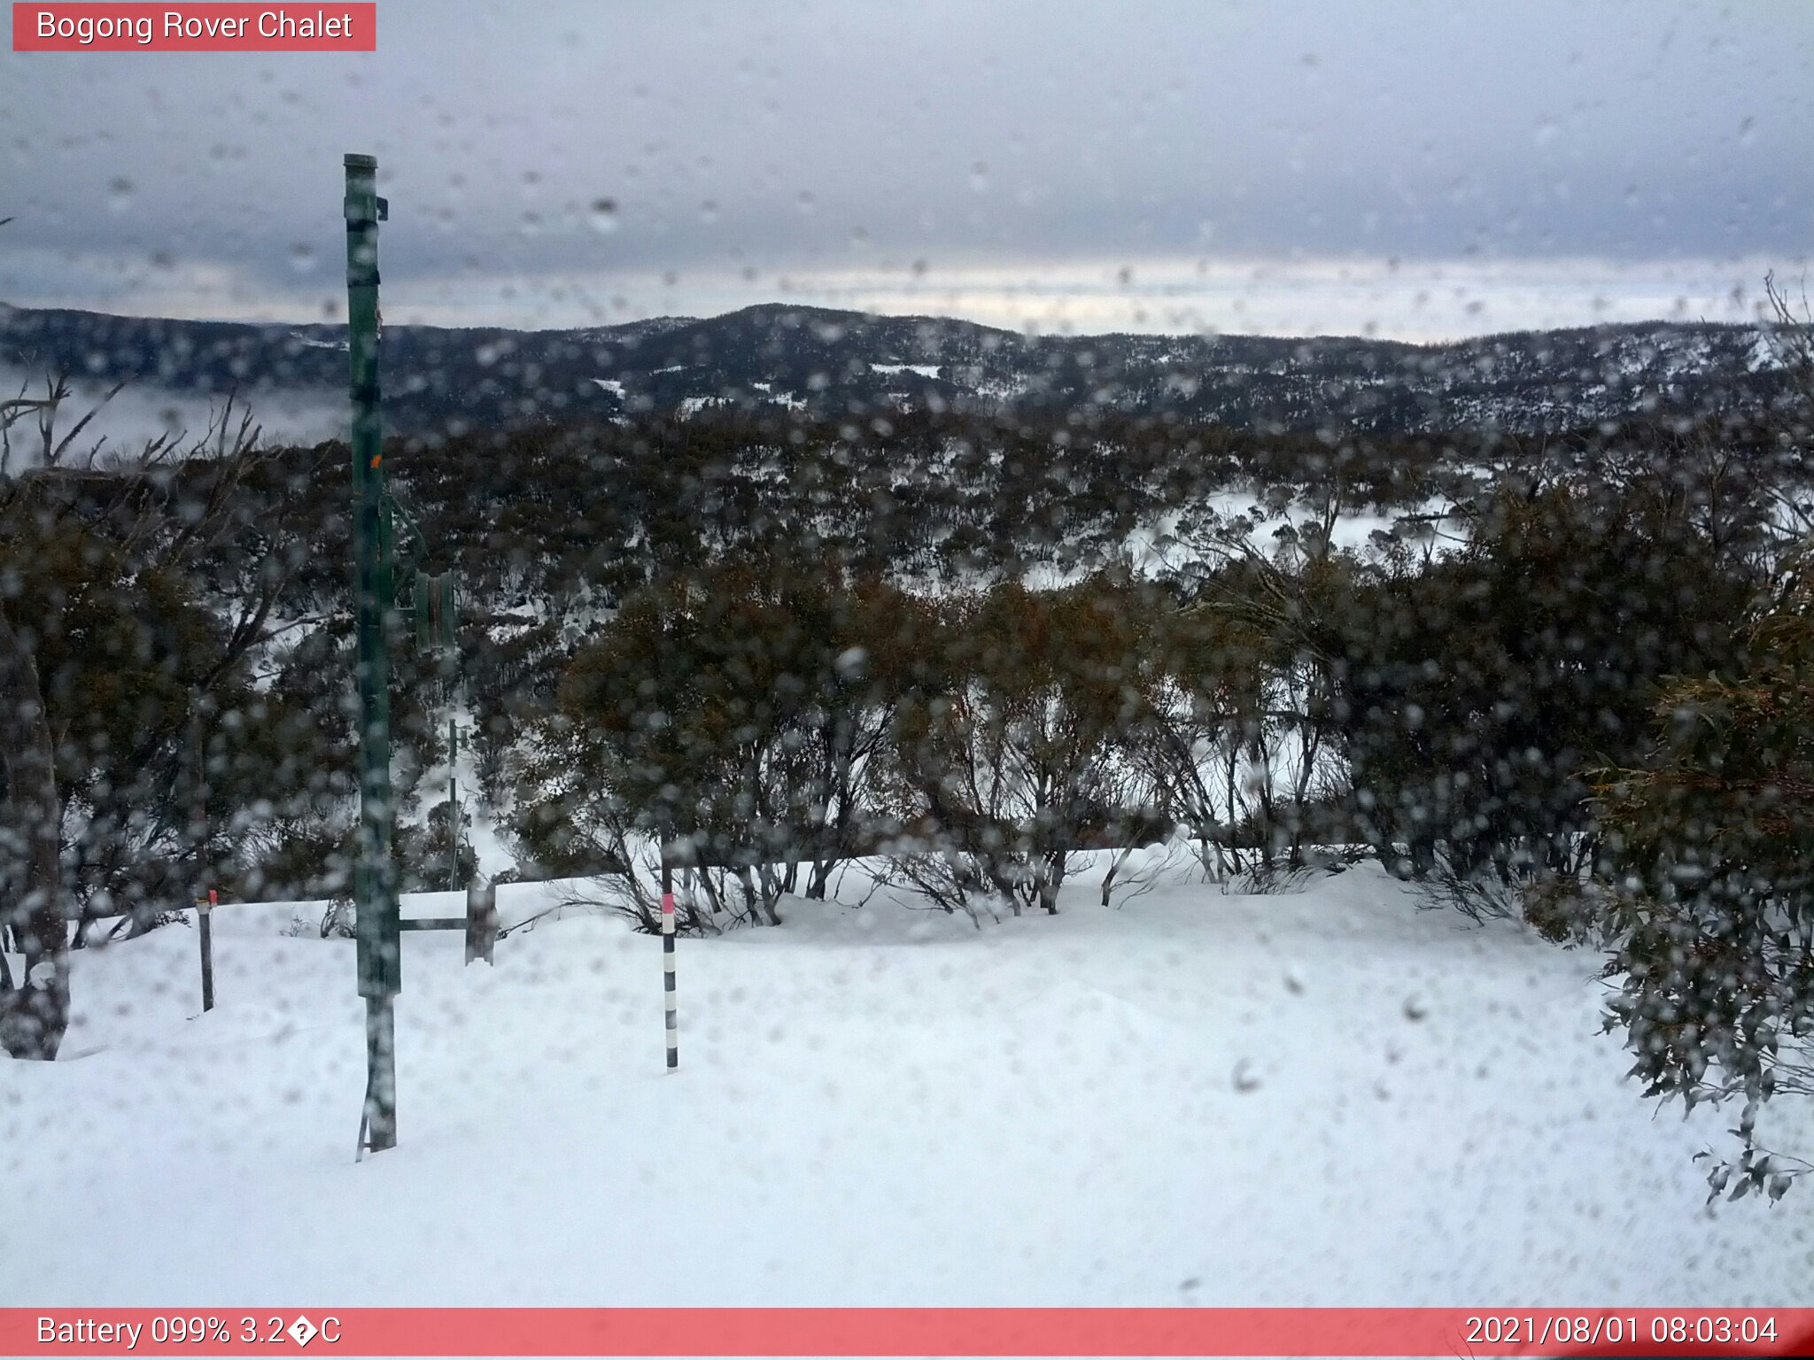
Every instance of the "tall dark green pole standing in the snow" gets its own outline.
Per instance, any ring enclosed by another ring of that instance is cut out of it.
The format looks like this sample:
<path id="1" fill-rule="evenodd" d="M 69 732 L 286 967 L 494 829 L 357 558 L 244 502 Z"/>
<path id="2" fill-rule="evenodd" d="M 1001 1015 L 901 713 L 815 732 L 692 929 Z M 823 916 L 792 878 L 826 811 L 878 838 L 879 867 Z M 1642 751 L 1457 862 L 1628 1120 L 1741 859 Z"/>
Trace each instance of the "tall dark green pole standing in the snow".
<path id="1" fill-rule="evenodd" d="M 397 872 L 390 798 L 390 513 L 377 388 L 377 160 L 346 156 L 346 354 L 352 386 L 354 600 L 359 671 L 359 863 L 354 872 L 359 996 L 365 997 L 365 1132 L 372 1151 L 397 1146 Z"/>

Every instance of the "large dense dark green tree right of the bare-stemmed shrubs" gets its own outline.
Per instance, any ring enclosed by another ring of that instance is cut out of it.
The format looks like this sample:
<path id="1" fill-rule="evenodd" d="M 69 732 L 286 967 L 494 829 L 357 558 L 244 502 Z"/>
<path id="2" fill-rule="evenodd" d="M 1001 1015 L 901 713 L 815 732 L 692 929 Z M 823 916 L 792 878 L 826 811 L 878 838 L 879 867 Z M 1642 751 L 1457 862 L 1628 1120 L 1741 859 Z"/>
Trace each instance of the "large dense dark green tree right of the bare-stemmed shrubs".
<path id="1" fill-rule="evenodd" d="M 1417 878 L 1573 878 L 1584 771 L 1643 749 L 1658 685 L 1729 656 L 1751 593 L 1683 504 L 1502 486 L 1460 553 L 1362 578 L 1326 620 L 1360 831 Z"/>

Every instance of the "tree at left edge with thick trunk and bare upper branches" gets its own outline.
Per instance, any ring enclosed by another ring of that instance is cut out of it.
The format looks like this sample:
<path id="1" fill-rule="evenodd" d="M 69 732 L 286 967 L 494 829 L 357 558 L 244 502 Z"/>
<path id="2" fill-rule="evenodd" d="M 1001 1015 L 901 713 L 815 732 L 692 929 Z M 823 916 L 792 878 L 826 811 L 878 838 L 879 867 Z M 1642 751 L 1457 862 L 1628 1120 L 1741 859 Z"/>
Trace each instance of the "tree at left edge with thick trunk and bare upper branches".
<path id="1" fill-rule="evenodd" d="M 103 466 L 65 457 L 67 395 L 51 379 L 24 408 L 31 462 L 0 446 L 0 943 L 24 965 L 0 948 L 0 1044 L 36 1059 L 89 925 L 143 928 L 218 881 L 238 814 L 278 794 L 278 747 L 314 731 L 250 676 L 301 560 L 281 506 L 247 493 L 258 428 L 229 406 L 187 457 L 156 441 Z"/>

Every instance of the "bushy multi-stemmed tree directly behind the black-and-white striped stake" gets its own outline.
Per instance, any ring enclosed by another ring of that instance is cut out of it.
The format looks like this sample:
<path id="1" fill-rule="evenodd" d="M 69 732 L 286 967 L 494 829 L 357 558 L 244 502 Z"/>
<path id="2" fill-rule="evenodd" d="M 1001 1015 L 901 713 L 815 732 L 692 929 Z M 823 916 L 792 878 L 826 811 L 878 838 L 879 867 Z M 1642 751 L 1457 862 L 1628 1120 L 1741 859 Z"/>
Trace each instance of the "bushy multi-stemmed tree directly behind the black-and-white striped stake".
<path id="1" fill-rule="evenodd" d="M 925 627 L 927 607 L 889 586 L 773 557 L 639 591 L 575 653 L 537 729 L 526 847 L 546 867 L 626 872 L 649 838 L 704 870 L 715 908 L 775 923 L 802 863 L 824 896 L 873 836 L 876 756 Z"/>

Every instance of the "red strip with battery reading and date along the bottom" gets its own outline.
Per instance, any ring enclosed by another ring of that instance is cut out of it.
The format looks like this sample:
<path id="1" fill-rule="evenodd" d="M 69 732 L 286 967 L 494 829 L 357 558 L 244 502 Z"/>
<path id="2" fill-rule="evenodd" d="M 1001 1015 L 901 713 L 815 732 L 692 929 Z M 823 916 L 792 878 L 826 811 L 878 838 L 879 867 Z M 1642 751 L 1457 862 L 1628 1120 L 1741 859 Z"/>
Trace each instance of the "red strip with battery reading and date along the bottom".
<path id="1" fill-rule="evenodd" d="M 1725 1356 L 1814 1355 L 1814 1309 L 285 1307 L 0 1309 L 0 1355 Z"/>

